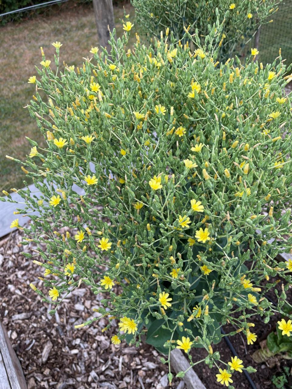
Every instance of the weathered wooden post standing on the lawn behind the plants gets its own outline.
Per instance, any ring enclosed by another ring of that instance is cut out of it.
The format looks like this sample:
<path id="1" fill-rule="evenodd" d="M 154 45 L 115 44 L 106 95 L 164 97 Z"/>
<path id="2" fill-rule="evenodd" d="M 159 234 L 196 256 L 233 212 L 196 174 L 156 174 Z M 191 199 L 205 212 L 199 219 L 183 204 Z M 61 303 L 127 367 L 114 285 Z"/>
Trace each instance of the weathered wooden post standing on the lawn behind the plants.
<path id="1" fill-rule="evenodd" d="M 109 29 L 113 31 L 114 28 L 114 9 L 113 0 L 92 0 L 95 14 L 95 21 L 97 26 L 97 35 L 99 37 L 99 44 L 103 47 L 108 47 Z"/>

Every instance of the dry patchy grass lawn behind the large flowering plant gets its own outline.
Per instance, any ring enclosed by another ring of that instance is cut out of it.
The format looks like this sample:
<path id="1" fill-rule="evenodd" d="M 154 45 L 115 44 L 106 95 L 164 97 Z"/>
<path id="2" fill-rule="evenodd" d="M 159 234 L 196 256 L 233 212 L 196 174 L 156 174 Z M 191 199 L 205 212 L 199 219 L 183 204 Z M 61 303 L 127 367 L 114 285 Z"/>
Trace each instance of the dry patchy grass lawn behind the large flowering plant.
<path id="1" fill-rule="evenodd" d="M 97 46 L 97 30 L 91 4 L 83 6 L 65 3 L 57 7 L 49 16 L 36 16 L 21 23 L 9 23 L 0 27 L 0 193 L 12 187 L 23 187 L 25 175 L 20 165 L 5 158 L 8 154 L 18 159 L 25 159 L 30 152 L 30 144 L 25 136 L 44 142 L 28 110 L 23 107 L 29 103 L 35 91 L 33 84 L 28 84 L 28 77 L 37 75 L 35 65 L 42 60 L 40 46 L 47 59 L 54 63 L 56 40 L 63 43 L 60 49 L 60 63 L 82 66 L 83 57 L 90 56 L 91 46 Z M 125 4 L 130 14 L 128 20 L 134 20 L 134 9 Z M 120 19 L 123 7 L 114 7 L 117 35 L 123 33 Z M 135 28 L 135 31 L 138 29 Z M 132 34 L 133 42 L 135 34 Z"/>

